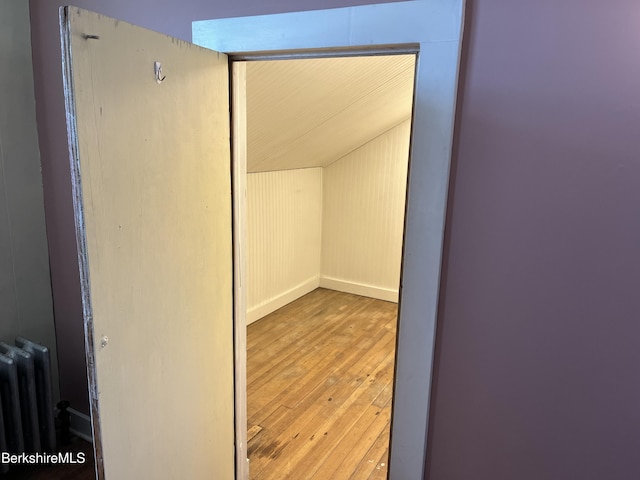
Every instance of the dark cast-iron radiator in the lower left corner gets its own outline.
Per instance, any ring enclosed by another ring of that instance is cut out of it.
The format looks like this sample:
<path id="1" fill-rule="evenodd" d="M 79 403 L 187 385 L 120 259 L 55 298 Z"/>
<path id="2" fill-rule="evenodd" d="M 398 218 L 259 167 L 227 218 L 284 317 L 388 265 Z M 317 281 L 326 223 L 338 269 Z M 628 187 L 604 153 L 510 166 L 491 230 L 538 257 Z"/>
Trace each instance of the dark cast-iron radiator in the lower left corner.
<path id="1" fill-rule="evenodd" d="M 15 343 L 0 342 L 0 450 L 55 452 L 49 349 L 21 337 Z"/>

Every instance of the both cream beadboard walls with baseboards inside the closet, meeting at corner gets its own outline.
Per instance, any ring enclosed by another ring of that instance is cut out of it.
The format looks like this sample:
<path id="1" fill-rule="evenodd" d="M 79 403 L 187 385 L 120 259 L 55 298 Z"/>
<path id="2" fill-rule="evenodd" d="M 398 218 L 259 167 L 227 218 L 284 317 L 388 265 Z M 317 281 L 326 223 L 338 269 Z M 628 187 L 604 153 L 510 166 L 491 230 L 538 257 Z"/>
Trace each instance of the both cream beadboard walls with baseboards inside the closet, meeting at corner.
<path id="1" fill-rule="evenodd" d="M 247 175 L 247 321 L 318 286 L 397 301 L 407 120 L 326 168 Z"/>

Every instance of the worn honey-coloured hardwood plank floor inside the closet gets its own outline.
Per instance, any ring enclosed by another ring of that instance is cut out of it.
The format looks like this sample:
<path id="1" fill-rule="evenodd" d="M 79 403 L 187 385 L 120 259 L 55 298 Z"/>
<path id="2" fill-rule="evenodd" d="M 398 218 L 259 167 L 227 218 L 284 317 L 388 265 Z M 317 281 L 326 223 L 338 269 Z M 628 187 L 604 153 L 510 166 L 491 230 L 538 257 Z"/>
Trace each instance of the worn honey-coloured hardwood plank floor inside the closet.
<path id="1" fill-rule="evenodd" d="M 317 289 L 249 325 L 251 480 L 387 477 L 396 318 Z"/>

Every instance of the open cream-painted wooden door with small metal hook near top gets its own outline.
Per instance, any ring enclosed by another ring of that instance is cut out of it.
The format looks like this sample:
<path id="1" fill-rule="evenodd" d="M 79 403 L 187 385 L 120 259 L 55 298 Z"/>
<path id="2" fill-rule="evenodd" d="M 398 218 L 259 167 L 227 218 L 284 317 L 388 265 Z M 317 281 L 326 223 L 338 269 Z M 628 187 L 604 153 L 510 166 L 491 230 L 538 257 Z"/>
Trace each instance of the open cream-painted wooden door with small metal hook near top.
<path id="1" fill-rule="evenodd" d="M 227 57 L 61 12 L 98 478 L 234 478 Z"/>

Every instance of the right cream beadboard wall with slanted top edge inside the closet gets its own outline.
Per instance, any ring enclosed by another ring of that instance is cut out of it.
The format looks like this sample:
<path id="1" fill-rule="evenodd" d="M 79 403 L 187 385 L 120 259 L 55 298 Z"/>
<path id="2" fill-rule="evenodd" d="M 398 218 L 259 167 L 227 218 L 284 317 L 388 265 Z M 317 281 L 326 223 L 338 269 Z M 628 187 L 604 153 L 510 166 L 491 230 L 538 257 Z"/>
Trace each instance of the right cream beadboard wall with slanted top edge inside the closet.
<path id="1" fill-rule="evenodd" d="M 321 286 L 397 301 L 410 127 L 324 169 Z"/>

